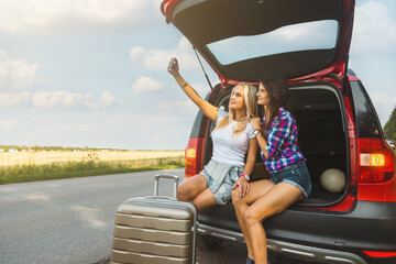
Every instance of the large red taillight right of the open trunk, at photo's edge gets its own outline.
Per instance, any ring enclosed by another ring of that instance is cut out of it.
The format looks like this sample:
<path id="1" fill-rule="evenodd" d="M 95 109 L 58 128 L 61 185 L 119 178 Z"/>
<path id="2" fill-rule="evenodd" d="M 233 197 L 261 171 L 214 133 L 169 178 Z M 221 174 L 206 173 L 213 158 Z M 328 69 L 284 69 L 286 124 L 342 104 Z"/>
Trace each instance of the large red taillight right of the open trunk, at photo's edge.
<path id="1" fill-rule="evenodd" d="M 359 139 L 360 200 L 396 201 L 395 157 L 383 139 Z"/>

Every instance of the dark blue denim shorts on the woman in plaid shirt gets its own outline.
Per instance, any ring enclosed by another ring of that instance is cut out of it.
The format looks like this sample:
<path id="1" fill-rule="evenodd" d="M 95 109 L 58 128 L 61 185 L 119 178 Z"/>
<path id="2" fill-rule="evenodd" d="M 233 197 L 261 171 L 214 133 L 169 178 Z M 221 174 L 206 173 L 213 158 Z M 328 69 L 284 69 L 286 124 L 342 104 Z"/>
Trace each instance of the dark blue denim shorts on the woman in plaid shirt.
<path id="1" fill-rule="evenodd" d="M 304 161 L 290 164 L 282 170 L 272 173 L 271 175 L 272 177 L 270 180 L 273 184 L 288 183 L 296 186 L 302 191 L 306 198 L 308 198 L 310 191 L 312 190 L 309 172 Z"/>

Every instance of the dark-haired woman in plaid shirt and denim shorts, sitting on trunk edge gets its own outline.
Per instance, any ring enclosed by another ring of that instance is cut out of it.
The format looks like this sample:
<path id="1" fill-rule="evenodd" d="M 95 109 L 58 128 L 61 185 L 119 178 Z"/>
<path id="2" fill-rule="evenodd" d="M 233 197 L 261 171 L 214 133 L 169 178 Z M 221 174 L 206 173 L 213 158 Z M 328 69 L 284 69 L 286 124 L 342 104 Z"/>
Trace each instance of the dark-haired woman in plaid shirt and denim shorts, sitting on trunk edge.
<path id="1" fill-rule="evenodd" d="M 263 123 L 260 118 L 251 119 L 251 123 L 272 177 L 249 184 L 248 194 L 241 193 L 238 184 L 232 191 L 238 222 L 248 246 L 248 264 L 267 263 L 263 220 L 306 199 L 311 191 L 305 157 L 297 146 L 296 120 L 286 110 L 289 103 L 285 80 L 261 80 L 257 105 L 264 107 Z"/>

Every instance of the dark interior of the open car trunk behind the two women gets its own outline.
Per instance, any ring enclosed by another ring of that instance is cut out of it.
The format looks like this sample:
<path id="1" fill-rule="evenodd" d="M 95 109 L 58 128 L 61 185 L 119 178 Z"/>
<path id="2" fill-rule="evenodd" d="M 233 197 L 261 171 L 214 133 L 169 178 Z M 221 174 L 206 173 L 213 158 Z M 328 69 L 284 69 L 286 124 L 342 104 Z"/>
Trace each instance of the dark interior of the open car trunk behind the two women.
<path id="1" fill-rule="evenodd" d="M 224 92 L 226 94 L 226 92 Z M 218 100 L 218 106 L 228 110 L 229 92 Z M 345 120 L 342 112 L 342 97 L 338 88 L 329 84 L 290 87 L 292 113 L 297 121 L 298 145 L 307 160 L 311 177 L 312 191 L 309 198 L 300 204 L 305 206 L 330 206 L 342 200 L 344 191 L 333 194 L 320 185 L 320 176 L 328 168 L 338 168 L 345 174 L 349 186 Z M 215 124 L 209 125 L 212 130 Z M 207 136 L 206 164 L 211 156 L 212 142 Z M 270 178 L 264 163 L 257 153 L 256 166 L 252 174 L 254 180 Z"/>

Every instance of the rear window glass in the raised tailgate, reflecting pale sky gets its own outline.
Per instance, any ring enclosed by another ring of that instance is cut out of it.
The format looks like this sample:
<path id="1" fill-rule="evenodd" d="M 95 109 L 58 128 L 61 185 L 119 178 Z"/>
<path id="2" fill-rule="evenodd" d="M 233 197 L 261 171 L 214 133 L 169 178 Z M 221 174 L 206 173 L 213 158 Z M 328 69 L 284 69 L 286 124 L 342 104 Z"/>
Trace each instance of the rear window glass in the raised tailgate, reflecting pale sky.
<path id="1" fill-rule="evenodd" d="M 220 64 L 288 52 L 334 48 L 339 32 L 336 20 L 286 25 L 261 35 L 240 35 L 207 45 Z"/>

